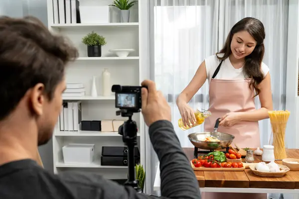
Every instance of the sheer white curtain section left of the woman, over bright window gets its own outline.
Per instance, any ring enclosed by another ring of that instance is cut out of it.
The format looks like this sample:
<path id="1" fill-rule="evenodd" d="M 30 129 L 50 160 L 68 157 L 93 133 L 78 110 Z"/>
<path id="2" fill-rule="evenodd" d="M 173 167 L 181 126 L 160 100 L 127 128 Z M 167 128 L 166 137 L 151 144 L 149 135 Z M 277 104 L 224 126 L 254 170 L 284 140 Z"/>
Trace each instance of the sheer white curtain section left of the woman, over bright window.
<path id="1" fill-rule="evenodd" d="M 183 147 L 193 146 L 187 134 L 203 131 L 203 125 L 180 130 L 175 100 L 203 59 L 217 51 L 218 3 L 218 0 L 155 0 L 154 81 L 171 106 L 173 125 Z M 207 109 L 207 94 L 205 84 L 189 104 L 195 109 Z"/>

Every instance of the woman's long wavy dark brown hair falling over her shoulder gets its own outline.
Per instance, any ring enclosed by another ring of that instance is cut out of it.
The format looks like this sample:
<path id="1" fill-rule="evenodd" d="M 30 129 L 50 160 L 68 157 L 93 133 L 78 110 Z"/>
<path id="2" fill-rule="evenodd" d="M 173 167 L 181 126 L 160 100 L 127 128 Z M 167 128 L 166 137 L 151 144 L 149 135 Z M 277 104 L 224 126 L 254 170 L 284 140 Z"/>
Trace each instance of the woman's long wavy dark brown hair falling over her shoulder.
<path id="1" fill-rule="evenodd" d="M 264 57 L 265 46 L 265 29 L 263 23 L 253 17 L 245 17 L 238 21 L 230 30 L 227 39 L 225 41 L 224 47 L 216 53 L 216 56 L 220 60 L 225 60 L 232 53 L 231 51 L 231 42 L 233 39 L 233 35 L 237 32 L 246 30 L 251 36 L 256 40 L 257 45 L 255 46 L 252 53 L 245 57 L 245 65 L 244 65 L 244 74 L 251 79 L 249 84 L 250 88 L 254 88 L 255 96 L 260 94 L 260 89 L 258 85 L 264 80 L 264 75 L 261 70 L 261 64 Z M 219 53 L 224 53 L 223 57 L 218 57 Z"/>

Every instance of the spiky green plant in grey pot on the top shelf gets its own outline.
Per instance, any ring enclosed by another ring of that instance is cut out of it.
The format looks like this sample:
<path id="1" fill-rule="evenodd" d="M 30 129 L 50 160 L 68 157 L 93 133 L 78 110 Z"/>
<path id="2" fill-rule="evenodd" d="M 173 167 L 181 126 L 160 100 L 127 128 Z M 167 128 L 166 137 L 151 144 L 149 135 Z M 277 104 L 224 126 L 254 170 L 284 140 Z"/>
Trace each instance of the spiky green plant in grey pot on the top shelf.
<path id="1" fill-rule="evenodd" d="M 114 0 L 112 6 L 121 10 L 121 22 L 129 22 L 130 8 L 135 5 L 138 0 Z"/>

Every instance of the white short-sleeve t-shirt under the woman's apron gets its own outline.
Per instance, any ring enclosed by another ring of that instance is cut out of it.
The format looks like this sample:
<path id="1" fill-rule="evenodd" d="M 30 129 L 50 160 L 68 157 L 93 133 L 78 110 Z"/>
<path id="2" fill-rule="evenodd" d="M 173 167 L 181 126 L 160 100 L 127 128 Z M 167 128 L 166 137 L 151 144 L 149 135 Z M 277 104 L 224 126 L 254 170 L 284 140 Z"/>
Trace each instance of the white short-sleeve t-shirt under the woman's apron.
<path id="1" fill-rule="evenodd" d="M 222 57 L 224 54 L 218 54 L 219 57 Z M 220 64 L 221 60 L 217 58 L 216 55 L 211 55 L 207 57 L 205 60 L 206 65 L 206 72 L 207 72 L 207 79 L 209 83 L 212 79 L 214 72 L 216 71 L 218 65 Z M 262 72 L 264 73 L 264 77 L 268 74 L 269 68 L 266 64 L 262 62 Z M 239 69 L 235 69 L 231 64 L 229 58 L 223 60 L 220 70 L 216 75 L 215 79 L 222 79 L 222 80 L 237 80 L 237 79 L 245 79 L 247 77 L 243 74 L 243 67 Z"/>

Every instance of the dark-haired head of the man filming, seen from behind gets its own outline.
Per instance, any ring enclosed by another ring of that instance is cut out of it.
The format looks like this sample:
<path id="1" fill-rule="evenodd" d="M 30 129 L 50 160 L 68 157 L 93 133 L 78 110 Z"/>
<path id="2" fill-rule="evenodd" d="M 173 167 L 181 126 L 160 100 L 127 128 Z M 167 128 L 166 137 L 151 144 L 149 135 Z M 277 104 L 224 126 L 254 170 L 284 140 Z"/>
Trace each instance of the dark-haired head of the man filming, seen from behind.
<path id="1" fill-rule="evenodd" d="M 37 18 L 0 17 L 0 129 L 26 121 L 38 145 L 46 143 L 62 105 L 65 66 L 77 56 Z"/>

